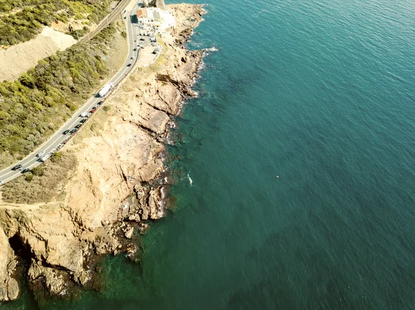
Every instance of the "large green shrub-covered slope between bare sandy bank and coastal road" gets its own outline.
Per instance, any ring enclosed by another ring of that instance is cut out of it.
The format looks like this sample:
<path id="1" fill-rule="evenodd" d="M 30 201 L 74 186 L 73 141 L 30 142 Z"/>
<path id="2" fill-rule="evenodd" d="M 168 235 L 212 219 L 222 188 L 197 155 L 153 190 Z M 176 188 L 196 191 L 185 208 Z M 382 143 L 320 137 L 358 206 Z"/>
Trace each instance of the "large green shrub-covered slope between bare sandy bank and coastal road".
<path id="1" fill-rule="evenodd" d="M 18 80 L 0 82 L 0 166 L 33 151 L 91 96 L 109 73 L 117 31 L 111 24 L 92 41 L 40 60 Z"/>

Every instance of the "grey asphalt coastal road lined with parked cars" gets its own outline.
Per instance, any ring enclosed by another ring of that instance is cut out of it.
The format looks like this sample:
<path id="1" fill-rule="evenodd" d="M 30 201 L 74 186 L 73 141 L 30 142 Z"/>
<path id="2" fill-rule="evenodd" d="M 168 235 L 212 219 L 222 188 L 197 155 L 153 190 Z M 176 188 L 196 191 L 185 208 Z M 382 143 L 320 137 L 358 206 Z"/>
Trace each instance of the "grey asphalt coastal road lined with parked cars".
<path id="1" fill-rule="evenodd" d="M 140 0 L 142 1 L 142 0 Z M 123 2 L 123 1 L 122 1 Z M 128 57 L 125 63 L 122 65 L 122 68 L 118 70 L 118 72 L 109 80 L 108 82 L 112 82 L 114 86 L 116 86 L 126 75 L 127 73 L 133 68 L 133 65 L 138 61 L 138 50 L 134 50 L 137 47 L 137 27 L 135 23 L 131 22 L 131 16 L 133 14 L 136 14 L 136 10 L 138 6 L 140 5 L 140 2 L 135 3 L 131 10 L 127 14 L 127 19 L 123 19 L 126 22 L 127 26 L 127 40 L 129 45 L 129 52 Z M 121 13 L 121 11 L 120 11 Z M 130 65 L 131 64 L 131 65 Z M 98 93 L 98 90 L 97 90 Z M 64 135 L 63 132 L 65 130 L 72 130 L 75 126 L 80 123 L 80 121 L 83 119 L 83 117 L 80 117 L 80 114 L 83 112 L 89 112 L 93 106 L 96 106 L 98 102 L 107 99 L 107 96 L 105 97 L 98 97 L 98 95 L 95 95 L 94 97 L 91 97 L 86 103 L 77 110 L 77 112 L 71 117 L 71 119 L 68 119 L 68 121 L 61 127 L 57 132 L 48 139 L 47 142 L 42 144 L 39 148 L 37 148 L 36 151 L 31 153 L 30 155 L 26 156 L 24 159 L 22 159 L 19 162 L 16 162 L 12 166 L 4 169 L 3 171 L 0 171 L 0 182 L 2 184 L 5 184 L 6 182 L 9 182 L 10 180 L 15 179 L 16 177 L 19 177 L 22 175 L 21 170 L 26 168 L 34 168 L 35 166 L 39 166 L 39 164 L 42 164 L 42 162 L 39 161 L 39 157 L 37 157 L 37 154 L 44 152 L 44 154 L 52 152 L 59 144 L 62 144 L 65 139 L 70 137 L 70 135 Z M 102 106 L 102 105 L 101 105 Z M 100 107 L 101 107 L 100 106 Z M 93 117 L 93 115 L 91 115 Z M 81 130 L 82 127 L 78 130 Z M 21 165 L 21 169 L 17 171 L 12 171 L 12 168 Z M 1 185 L 1 183 L 0 183 Z"/>

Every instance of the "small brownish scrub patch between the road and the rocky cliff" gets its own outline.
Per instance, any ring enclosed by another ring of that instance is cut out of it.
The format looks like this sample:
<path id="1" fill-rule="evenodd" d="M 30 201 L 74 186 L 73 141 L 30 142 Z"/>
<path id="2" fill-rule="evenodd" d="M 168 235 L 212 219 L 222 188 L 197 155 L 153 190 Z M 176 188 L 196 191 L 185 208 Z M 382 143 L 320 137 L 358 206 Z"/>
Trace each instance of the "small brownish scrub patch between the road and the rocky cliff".
<path id="1" fill-rule="evenodd" d="M 59 195 L 59 187 L 64 184 L 67 175 L 77 167 L 75 155 L 67 152 L 55 153 L 55 160 L 49 160 L 42 166 L 33 168 L 25 177 L 18 177 L 1 188 L 4 202 L 17 204 L 35 204 L 49 202 Z"/>

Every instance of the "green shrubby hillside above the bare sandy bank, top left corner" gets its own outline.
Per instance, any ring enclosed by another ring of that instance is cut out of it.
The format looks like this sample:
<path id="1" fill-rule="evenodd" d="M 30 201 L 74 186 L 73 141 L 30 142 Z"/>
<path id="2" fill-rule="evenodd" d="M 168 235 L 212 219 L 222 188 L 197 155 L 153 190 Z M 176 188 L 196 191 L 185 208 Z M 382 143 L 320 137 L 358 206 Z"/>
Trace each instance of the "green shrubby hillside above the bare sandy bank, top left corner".
<path id="1" fill-rule="evenodd" d="M 106 1 L 98 0 L 0 0 L 0 46 L 33 39 L 43 26 L 68 19 L 88 19 L 98 23 L 108 14 Z M 82 36 L 88 28 L 71 31 Z"/>

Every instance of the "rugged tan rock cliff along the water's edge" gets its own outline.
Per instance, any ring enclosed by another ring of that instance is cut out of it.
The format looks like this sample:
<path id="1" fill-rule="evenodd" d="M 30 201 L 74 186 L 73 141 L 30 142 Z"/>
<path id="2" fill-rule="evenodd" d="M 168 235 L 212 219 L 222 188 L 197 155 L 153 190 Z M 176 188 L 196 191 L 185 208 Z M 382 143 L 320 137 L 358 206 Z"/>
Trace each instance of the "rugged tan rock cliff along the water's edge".
<path id="1" fill-rule="evenodd" d="M 31 287 L 65 294 L 73 283 L 88 287 L 96 254 L 127 251 L 149 220 L 164 215 L 160 153 L 169 115 L 192 95 L 201 51 L 183 48 L 201 21 L 201 6 L 167 6 L 176 29 L 163 37 L 163 55 L 153 67 L 131 74 L 107 101 L 100 128 L 84 128 L 67 146 L 79 165 L 59 199 L 37 205 L 0 205 L 0 300 L 17 298 L 14 274 L 22 259 Z M 102 112 L 102 111 L 101 111 Z M 98 112 L 100 113 L 100 112 Z"/>

